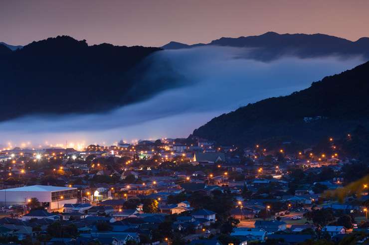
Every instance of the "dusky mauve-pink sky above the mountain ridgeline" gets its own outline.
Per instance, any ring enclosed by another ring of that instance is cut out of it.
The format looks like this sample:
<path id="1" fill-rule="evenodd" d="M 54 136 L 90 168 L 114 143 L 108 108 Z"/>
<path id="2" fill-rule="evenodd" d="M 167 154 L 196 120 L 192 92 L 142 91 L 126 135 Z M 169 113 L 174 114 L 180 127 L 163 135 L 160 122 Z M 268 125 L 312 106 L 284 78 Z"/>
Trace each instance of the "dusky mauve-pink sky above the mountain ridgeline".
<path id="1" fill-rule="evenodd" d="M 368 0 L 0 0 L 0 41 L 67 34 L 89 44 L 161 46 L 227 36 L 369 36 Z"/>

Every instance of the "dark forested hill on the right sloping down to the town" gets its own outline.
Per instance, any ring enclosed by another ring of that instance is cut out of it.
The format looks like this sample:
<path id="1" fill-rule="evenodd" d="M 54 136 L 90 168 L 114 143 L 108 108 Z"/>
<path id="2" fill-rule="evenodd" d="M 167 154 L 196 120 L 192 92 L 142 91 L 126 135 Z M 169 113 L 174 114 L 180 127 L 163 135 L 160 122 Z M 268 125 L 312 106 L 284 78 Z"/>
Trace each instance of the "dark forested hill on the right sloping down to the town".
<path id="1" fill-rule="evenodd" d="M 193 131 L 225 145 L 265 141 L 317 143 L 369 125 L 369 62 L 289 96 L 249 104 Z"/>

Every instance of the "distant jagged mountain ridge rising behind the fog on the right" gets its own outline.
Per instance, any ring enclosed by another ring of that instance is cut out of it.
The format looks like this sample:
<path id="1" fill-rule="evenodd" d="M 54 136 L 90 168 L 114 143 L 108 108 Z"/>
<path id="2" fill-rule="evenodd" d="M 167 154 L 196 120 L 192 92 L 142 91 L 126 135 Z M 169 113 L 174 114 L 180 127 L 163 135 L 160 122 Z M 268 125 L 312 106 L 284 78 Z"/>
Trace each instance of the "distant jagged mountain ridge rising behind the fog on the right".
<path id="1" fill-rule="evenodd" d="M 172 42 L 171 42 L 172 43 Z M 196 45 L 164 45 L 164 49 L 191 48 Z M 278 34 L 266 32 L 258 36 L 222 37 L 205 46 L 252 48 L 251 57 L 258 60 L 276 59 L 282 55 L 302 58 L 326 55 L 364 55 L 369 58 L 369 38 L 356 42 L 325 34 Z"/>

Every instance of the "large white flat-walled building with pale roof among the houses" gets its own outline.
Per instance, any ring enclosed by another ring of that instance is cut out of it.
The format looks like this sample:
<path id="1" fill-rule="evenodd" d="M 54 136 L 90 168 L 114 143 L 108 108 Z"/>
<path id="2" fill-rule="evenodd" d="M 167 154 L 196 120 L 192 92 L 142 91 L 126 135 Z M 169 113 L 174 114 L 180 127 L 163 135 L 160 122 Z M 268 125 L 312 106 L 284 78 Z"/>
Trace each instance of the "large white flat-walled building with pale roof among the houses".
<path id="1" fill-rule="evenodd" d="M 24 204 L 37 198 L 48 209 L 63 208 L 64 204 L 77 203 L 77 188 L 48 185 L 32 185 L 0 190 L 0 203 L 6 205 Z"/>

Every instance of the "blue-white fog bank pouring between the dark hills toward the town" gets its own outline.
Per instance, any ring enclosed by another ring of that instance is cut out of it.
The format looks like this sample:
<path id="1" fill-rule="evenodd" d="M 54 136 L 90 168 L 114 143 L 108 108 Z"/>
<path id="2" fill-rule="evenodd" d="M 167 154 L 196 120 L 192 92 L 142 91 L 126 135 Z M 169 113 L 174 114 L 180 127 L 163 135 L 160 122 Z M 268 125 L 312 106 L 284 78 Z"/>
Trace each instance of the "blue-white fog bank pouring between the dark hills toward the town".
<path id="1" fill-rule="evenodd" d="M 282 56 L 262 62 L 248 59 L 249 52 L 246 48 L 217 46 L 155 52 L 147 58 L 153 65 L 132 90 L 140 93 L 155 89 L 168 82 L 163 79 L 176 86 L 104 113 L 31 115 L 2 122 L 0 143 L 113 143 L 119 139 L 186 137 L 222 113 L 288 95 L 365 61 L 359 56 Z"/>

